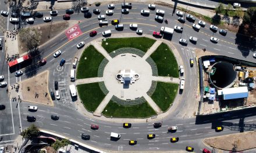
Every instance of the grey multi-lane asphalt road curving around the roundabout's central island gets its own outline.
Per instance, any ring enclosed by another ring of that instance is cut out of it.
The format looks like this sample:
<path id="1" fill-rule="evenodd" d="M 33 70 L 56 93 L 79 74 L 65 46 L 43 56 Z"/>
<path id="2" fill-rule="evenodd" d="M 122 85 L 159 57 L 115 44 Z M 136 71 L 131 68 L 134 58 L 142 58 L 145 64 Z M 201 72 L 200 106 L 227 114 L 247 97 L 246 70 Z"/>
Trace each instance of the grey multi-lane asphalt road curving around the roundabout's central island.
<path id="1" fill-rule="evenodd" d="M 92 9 L 93 7 L 90 8 L 90 11 Z M 107 6 L 100 6 L 99 9 L 101 9 L 101 14 L 105 14 L 104 10 L 107 10 Z M 93 14 L 90 19 L 84 19 L 83 13 L 73 14 L 71 20 L 83 21 L 79 24 L 79 26 L 84 34 L 73 39 L 72 41 L 67 41 L 66 35 L 62 34 L 58 38 L 42 46 L 40 48 L 41 57 L 42 59 L 47 59 L 47 64 L 42 67 L 38 67 L 35 70 L 31 70 L 31 68 L 24 68 L 24 74 L 19 78 L 16 78 L 14 73 L 9 73 L 6 63 L 1 60 L 2 74 L 5 75 L 5 77 L 9 76 L 9 85 L 13 85 L 16 81 L 27 79 L 28 77 L 33 76 L 33 74 L 38 74 L 42 71 L 49 70 L 49 90 L 54 90 L 53 82 L 54 80 L 57 80 L 62 82 L 62 93 L 63 95 L 66 95 L 63 96 L 65 97 L 65 100 L 55 100 L 55 107 L 38 105 L 37 112 L 29 112 L 27 110 L 27 105 L 30 105 L 29 103 L 22 102 L 17 105 L 16 101 L 11 102 L 8 99 L 8 95 L 5 93 L 5 88 L 1 89 L 0 96 L 4 101 L 3 103 L 6 104 L 6 110 L 1 111 L 1 115 L 7 116 L 6 118 L 0 119 L 0 132 L 4 139 L 3 143 L 11 143 L 13 138 L 19 132 L 19 127 L 24 129 L 31 124 L 26 121 L 26 116 L 29 114 L 35 115 L 37 117 L 35 124 L 40 126 L 42 129 L 63 134 L 66 137 L 70 137 L 78 141 L 83 141 L 80 139 L 81 133 L 88 133 L 91 135 L 91 140 L 84 141 L 84 143 L 93 145 L 94 147 L 103 148 L 104 150 L 114 151 L 176 151 L 184 150 L 187 145 L 191 145 L 195 148 L 195 152 L 200 152 L 204 147 L 201 140 L 205 137 L 238 133 L 241 129 L 245 131 L 253 130 L 255 128 L 254 109 L 237 114 L 230 114 L 229 118 L 223 118 L 219 115 L 208 116 L 207 118 L 184 118 L 184 115 L 191 109 L 191 107 L 197 109 L 197 106 L 195 105 L 197 102 L 195 99 L 191 100 L 191 97 L 195 97 L 193 90 L 197 89 L 197 82 L 195 82 L 195 80 L 197 80 L 197 68 L 189 67 L 189 59 L 194 58 L 194 48 L 206 48 L 210 52 L 217 54 L 222 54 L 237 59 L 255 61 L 255 59 L 253 59 L 251 56 L 251 52 L 249 52 L 247 58 L 243 54 L 249 50 L 248 47 L 250 46 L 248 46 L 248 42 L 244 42 L 245 45 L 243 46 L 246 47 L 237 46 L 235 45 L 236 34 L 228 32 L 227 35 L 223 37 L 218 32 L 214 33 L 209 30 L 209 24 L 205 25 L 204 28 L 201 27 L 200 31 L 197 32 L 191 28 L 193 23 L 186 20 L 186 23 L 182 24 L 177 21 L 176 14 L 173 14 L 172 16 L 173 11 L 169 8 L 157 6 L 157 9 L 165 10 L 164 19 L 169 20 L 168 24 L 158 23 L 154 20 L 155 10 L 151 10 L 151 14 L 148 17 L 141 16 L 141 9 L 147 9 L 147 4 L 134 3 L 133 9 L 130 10 L 129 14 L 121 14 L 120 5 L 116 5 L 113 16 L 106 17 L 106 19 L 109 20 L 109 23 L 111 23 L 112 19 L 120 19 L 121 23 L 125 24 L 123 31 L 116 31 L 113 25 L 99 27 L 97 15 L 95 14 Z M 65 10 L 59 10 L 58 16 L 54 17 L 54 21 L 62 20 L 63 14 L 65 14 Z M 49 12 L 44 12 L 44 15 L 49 15 Z M 34 25 L 42 23 L 44 23 L 42 19 L 35 19 Z M 183 27 L 182 33 L 174 32 L 172 36 L 164 35 L 163 38 L 170 40 L 179 50 L 185 67 L 185 86 L 190 86 L 190 89 L 184 90 L 183 94 L 179 95 L 182 96 L 182 100 L 181 103 L 179 103 L 178 109 L 173 111 L 167 118 L 162 120 L 163 126 L 159 129 L 153 128 L 151 122 L 133 123 L 130 129 L 123 129 L 122 123 L 110 123 L 96 119 L 90 119 L 77 112 L 76 103 L 70 101 L 69 89 L 67 86 L 70 83 L 69 72 L 71 63 L 74 54 L 77 52 L 76 44 L 81 41 L 88 43 L 95 38 L 102 37 L 101 32 L 109 29 L 112 30 L 112 34 L 135 33 L 136 31 L 130 30 L 130 23 L 138 23 L 138 28 L 141 28 L 143 30 L 143 34 L 145 35 L 152 35 L 152 31 L 159 31 L 161 26 L 173 28 L 174 25 L 180 25 Z M 198 23 L 198 19 L 195 20 L 195 23 Z M 15 25 L 10 25 L 10 29 L 12 29 L 12 26 Z M 27 26 L 30 25 L 23 24 L 23 27 Z M 98 31 L 98 35 L 93 38 L 89 37 L 88 35 L 88 33 L 92 30 Z M 209 38 L 212 35 L 214 35 L 216 38 L 219 38 L 220 41 L 218 43 L 212 43 L 209 41 Z M 179 38 L 189 40 L 190 36 L 197 37 L 198 42 L 196 44 L 189 42 L 187 46 L 179 44 Z M 58 58 L 54 59 L 53 53 L 56 52 L 56 50 L 62 50 L 62 54 Z M 60 69 L 58 65 L 62 58 L 66 59 L 66 64 L 62 69 Z M 58 114 L 60 116 L 59 121 L 51 120 L 51 114 Z M 6 125 L 2 123 L 6 123 Z M 97 123 L 99 125 L 99 130 L 91 130 L 91 123 Z M 225 126 L 225 130 L 223 132 L 216 133 L 214 128 L 216 125 L 220 124 Z M 167 133 L 168 126 L 174 125 L 178 126 L 177 132 Z M 12 134 L 13 129 L 15 130 L 15 134 Z M 121 139 L 118 141 L 109 140 L 111 132 L 121 133 Z M 4 134 L 6 133 L 10 134 L 5 136 Z M 148 133 L 155 133 L 157 136 L 155 139 L 148 140 Z M 175 144 L 170 143 L 170 137 L 173 136 L 180 137 L 180 141 Z M 130 139 L 136 139 L 138 144 L 134 146 L 128 145 L 128 141 Z"/>

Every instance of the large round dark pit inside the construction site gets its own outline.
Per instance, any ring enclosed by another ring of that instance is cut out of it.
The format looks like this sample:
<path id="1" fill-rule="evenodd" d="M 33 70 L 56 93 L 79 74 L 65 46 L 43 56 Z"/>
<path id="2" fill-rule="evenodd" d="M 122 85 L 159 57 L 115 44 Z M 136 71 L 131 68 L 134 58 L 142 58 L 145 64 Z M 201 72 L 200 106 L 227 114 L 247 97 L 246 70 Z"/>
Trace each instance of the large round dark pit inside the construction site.
<path id="1" fill-rule="evenodd" d="M 230 88 L 234 85 L 237 72 L 234 71 L 233 64 L 226 61 L 219 61 L 212 65 L 212 68 L 216 68 L 216 71 L 213 75 L 209 75 L 209 82 L 215 88 Z"/>

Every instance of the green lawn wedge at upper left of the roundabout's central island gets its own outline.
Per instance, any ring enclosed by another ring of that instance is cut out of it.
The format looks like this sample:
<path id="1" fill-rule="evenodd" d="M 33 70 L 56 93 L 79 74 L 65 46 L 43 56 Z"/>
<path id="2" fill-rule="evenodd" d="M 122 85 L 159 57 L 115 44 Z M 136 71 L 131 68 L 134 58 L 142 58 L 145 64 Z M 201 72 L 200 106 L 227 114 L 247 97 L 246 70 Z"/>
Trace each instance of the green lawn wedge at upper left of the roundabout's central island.
<path id="1" fill-rule="evenodd" d="M 93 45 L 86 48 L 79 60 L 76 78 L 94 78 L 98 76 L 98 67 L 104 56 L 99 53 Z"/>

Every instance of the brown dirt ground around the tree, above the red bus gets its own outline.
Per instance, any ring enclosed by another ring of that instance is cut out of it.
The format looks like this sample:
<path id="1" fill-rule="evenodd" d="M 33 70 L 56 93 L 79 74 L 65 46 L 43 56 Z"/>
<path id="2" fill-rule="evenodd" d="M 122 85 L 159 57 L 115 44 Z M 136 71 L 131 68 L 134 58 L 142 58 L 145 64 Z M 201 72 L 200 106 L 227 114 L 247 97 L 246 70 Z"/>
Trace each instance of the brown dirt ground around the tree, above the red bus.
<path id="1" fill-rule="evenodd" d="M 34 28 L 35 30 L 37 30 L 41 38 L 39 45 L 42 45 L 43 43 L 49 41 L 51 38 L 54 38 L 56 35 L 61 33 L 63 30 L 69 27 L 69 25 L 73 25 L 73 24 L 74 24 L 74 21 L 58 21 L 54 23 L 40 24 L 30 28 Z M 18 42 L 19 54 L 23 54 L 27 52 L 28 49 L 26 46 L 26 41 L 22 42 L 19 34 L 18 34 L 18 41 L 19 41 Z"/>

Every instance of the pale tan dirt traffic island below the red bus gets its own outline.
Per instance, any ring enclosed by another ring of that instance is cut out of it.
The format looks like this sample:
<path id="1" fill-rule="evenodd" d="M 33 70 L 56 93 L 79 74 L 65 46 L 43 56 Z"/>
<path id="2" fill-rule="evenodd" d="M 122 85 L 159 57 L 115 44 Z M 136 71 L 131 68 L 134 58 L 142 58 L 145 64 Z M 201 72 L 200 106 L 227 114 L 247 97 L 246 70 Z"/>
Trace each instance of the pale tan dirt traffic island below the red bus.
<path id="1" fill-rule="evenodd" d="M 20 83 L 22 87 L 21 92 L 23 101 L 54 106 L 54 103 L 49 96 L 48 75 L 49 71 L 44 71 L 41 74 Z M 36 93 L 38 96 L 36 96 Z"/>

